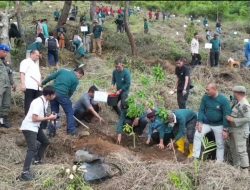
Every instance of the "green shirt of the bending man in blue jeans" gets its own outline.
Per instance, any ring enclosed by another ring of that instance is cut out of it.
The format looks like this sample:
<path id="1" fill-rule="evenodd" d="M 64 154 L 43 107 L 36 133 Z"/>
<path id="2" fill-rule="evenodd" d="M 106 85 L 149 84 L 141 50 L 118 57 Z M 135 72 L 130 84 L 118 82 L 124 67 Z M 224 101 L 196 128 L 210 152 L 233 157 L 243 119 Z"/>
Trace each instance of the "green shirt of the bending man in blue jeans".
<path id="1" fill-rule="evenodd" d="M 54 80 L 54 88 L 56 93 L 71 97 L 76 90 L 79 80 L 76 77 L 76 74 L 72 70 L 60 69 L 57 72 L 49 75 L 43 82 L 42 85 L 45 85 L 49 81 Z"/>

